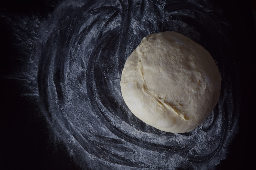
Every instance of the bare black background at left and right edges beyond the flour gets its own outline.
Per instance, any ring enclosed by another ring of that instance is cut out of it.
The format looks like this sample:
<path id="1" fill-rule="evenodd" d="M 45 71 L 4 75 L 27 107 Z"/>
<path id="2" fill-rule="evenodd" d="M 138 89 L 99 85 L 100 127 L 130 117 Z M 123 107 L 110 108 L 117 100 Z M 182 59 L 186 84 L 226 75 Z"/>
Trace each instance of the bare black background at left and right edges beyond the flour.
<path id="1" fill-rule="evenodd" d="M 59 1 L 5 1 L 0 13 L 30 16 L 40 13 L 47 17 Z M 224 11 L 233 34 L 234 56 L 230 62 L 237 66 L 241 93 L 239 132 L 229 146 L 228 156 L 217 169 L 247 169 L 254 161 L 255 114 L 255 48 L 256 32 L 250 1 L 216 1 Z M 76 169 L 62 143 L 48 138 L 46 120 L 33 99 L 21 96 L 24 89 L 17 81 L 6 79 L 17 70 L 20 62 L 13 59 L 19 51 L 14 48 L 12 25 L 0 17 L 1 48 L 1 165 L 0 169 Z M 236 69 L 231 70 L 236 72 Z M 235 73 L 234 73 L 235 74 Z"/>

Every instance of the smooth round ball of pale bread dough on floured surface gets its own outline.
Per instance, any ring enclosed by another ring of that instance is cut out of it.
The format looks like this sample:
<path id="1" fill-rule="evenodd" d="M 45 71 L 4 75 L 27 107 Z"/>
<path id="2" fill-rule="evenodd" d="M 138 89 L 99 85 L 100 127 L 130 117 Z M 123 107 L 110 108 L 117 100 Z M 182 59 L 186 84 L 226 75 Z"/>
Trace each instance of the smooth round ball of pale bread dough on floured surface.
<path id="1" fill-rule="evenodd" d="M 123 99 L 143 122 L 166 132 L 199 126 L 220 96 L 221 76 L 210 53 L 176 32 L 144 37 L 127 58 Z"/>

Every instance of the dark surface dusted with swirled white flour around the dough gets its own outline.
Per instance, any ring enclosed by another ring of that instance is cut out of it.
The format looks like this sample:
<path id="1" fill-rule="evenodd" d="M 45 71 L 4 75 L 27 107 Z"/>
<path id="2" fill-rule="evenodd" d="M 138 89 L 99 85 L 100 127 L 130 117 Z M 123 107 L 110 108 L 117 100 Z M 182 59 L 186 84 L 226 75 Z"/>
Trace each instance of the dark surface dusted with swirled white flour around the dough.
<path id="1" fill-rule="evenodd" d="M 217 168 L 228 158 L 227 148 L 239 130 L 241 95 L 232 27 L 214 4 L 62 2 L 46 19 L 40 14 L 2 15 L 15 33 L 17 54 L 11 65 L 19 66 L 4 78 L 21 86 L 18 96 L 31 108 L 32 118 L 26 117 L 31 122 L 35 117 L 39 128 L 45 128 L 38 130 L 47 143 L 42 146 L 53 151 L 42 152 L 82 169 Z M 167 30 L 207 49 L 222 76 L 214 111 L 184 134 L 138 120 L 120 90 L 124 62 L 141 39 Z"/>

